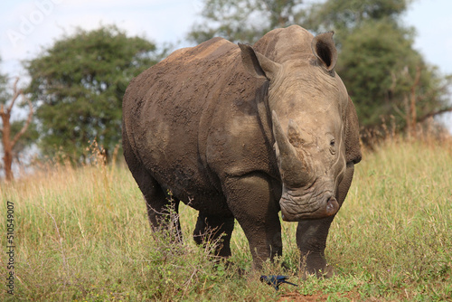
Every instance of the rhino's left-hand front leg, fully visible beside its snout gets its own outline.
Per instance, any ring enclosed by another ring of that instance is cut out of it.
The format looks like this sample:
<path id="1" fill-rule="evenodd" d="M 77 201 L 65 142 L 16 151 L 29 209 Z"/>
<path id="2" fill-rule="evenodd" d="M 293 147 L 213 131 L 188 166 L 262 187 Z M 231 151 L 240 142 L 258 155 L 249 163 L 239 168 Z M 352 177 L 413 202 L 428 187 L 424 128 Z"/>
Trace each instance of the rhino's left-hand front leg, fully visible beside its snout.
<path id="1" fill-rule="evenodd" d="M 259 173 L 231 177 L 224 182 L 223 192 L 249 241 L 253 268 L 281 255 L 278 193 L 273 192 L 268 177 Z"/>

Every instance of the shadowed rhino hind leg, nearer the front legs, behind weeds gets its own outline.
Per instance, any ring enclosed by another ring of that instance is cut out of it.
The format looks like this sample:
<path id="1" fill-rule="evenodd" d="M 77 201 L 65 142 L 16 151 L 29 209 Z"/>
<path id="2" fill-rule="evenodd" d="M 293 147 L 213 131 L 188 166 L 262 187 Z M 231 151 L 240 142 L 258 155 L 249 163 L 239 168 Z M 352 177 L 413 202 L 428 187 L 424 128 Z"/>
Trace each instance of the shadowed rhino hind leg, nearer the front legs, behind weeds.
<path id="1" fill-rule="evenodd" d="M 193 231 L 193 240 L 197 244 L 213 242 L 216 244 L 215 255 L 231 256 L 231 235 L 234 230 L 234 217 L 223 215 L 198 215 L 198 221 Z"/>

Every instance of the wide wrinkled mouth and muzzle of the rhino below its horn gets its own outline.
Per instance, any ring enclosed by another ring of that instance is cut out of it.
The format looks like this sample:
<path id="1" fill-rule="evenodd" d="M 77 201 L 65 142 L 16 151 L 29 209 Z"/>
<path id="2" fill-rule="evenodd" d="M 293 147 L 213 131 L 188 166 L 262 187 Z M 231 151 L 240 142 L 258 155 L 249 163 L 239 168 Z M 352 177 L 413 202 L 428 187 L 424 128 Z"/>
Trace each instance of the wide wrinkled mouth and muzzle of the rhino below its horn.
<path id="1" fill-rule="evenodd" d="M 331 191 L 316 195 L 294 196 L 283 193 L 279 200 L 282 219 L 285 222 L 299 222 L 307 219 L 320 219 L 339 211 L 339 203 Z"/>

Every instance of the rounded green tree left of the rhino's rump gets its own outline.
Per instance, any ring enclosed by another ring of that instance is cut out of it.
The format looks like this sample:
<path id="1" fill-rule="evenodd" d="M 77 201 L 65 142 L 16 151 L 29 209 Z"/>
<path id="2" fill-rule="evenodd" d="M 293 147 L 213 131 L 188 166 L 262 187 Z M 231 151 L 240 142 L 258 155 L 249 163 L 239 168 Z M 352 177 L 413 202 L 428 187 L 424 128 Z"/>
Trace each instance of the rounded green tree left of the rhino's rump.
<path id="1" fill-rule="evenodd" d="M 90 32 L 77 29 L 26 61 L 42 153 L 52 155 L 61 148 L 79 161 L 96 139 L 108 156 L 121 139 L 128 82 L 159 58 L 154 43 L 127 37 L 111 25 Z"/>

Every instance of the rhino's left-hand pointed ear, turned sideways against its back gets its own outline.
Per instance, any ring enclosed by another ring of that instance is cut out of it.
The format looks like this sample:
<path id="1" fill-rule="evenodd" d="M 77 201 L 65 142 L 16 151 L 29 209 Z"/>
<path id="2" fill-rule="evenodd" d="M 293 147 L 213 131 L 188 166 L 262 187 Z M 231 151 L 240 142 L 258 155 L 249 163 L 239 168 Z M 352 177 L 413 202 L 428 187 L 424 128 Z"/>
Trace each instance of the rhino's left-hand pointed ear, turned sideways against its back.
<path id="1" fill-rule="evenodd" d="M 281 67 L 275 61 L 271 61 L 265 55 L 255 52 L 254 49 L 247 44 L 239 43 L 241 51 L 241 61 L 245 70 L 258 79 L 275 79 Z"/>

